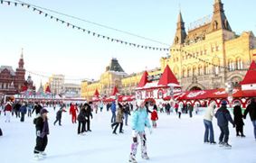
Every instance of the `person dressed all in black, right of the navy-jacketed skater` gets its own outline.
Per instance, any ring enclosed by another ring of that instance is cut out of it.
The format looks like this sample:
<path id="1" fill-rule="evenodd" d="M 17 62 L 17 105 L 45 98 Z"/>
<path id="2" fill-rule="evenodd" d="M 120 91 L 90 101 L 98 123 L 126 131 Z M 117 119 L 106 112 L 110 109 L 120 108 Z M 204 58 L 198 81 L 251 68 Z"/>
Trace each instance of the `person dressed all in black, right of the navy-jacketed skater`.
<path id="1" fill-rule="evenodd" d="M 233 107 L 233 122 L 235 123 L 236 136 L 245 137 L 243 134 L 242 108 L 239 102 L 235 103 Z"/>

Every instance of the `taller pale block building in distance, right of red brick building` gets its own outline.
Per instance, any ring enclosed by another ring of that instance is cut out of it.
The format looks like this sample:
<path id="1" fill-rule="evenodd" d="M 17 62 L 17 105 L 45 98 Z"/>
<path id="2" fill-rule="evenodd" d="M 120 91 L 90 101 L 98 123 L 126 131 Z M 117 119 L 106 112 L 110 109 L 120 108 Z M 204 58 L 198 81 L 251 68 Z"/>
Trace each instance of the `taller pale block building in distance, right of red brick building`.
<path id="1" fill-rule="evenodd" d="M 48 85 L 52 91 L 52 94 L 60 95 L 64 92 L 65 76 L 62 74 L 53 74 L 49 77 Z"/>

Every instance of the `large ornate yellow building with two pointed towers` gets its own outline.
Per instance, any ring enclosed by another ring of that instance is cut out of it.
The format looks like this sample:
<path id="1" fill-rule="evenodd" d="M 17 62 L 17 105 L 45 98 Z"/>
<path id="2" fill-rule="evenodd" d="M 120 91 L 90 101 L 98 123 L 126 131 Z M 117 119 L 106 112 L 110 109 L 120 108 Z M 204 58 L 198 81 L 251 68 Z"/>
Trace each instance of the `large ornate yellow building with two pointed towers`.
<path id="1" fill-rule="evenodd" d="M 232 32 L 221 0 L 214 0 L 213 16 L 194 23 L 185 32 L 181 12 L 178 14 L 170 56 L 161 59 L 173 70 L 183 90 L 238 86 L 251 61 L 256 59 L 256 38 L 252 32 Z"/>

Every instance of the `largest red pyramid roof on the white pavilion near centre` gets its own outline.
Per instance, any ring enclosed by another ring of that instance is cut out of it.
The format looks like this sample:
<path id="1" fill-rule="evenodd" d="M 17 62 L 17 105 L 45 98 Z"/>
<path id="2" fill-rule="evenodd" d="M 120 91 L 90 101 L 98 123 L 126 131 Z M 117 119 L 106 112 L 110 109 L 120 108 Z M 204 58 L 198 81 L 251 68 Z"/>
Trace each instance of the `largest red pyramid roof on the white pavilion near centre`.
<path id="1" fill-rule="evenodd" d="M 168 84 L 176 84 L 179 85 L 179 82 L 177 78 L 175 77 L 174 73 L 170 69 L 170 67 L 167 65 L 163 75 L 159 79 L 158 86 L 159 85 L 164 85 L 167 86 Z"/>

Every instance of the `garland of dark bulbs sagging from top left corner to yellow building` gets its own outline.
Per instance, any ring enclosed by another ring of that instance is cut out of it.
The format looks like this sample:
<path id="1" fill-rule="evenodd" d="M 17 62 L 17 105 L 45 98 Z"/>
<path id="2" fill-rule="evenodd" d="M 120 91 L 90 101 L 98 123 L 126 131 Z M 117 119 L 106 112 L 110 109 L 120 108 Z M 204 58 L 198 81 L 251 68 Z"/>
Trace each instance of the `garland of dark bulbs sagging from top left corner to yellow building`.
<path id="1" fill-rule="evenodd" d="M 98 32 L 91 32 L 90 30 L 84 29 L 80 26 L 74 25 L 72 23 L 66 22 L 56 16 L 53 16 L 52 14 L 48 14 L 43 12 L 42 10 L 38 9 L 37 7 L 28 5 L 28 4 L 24 4 L 24 3 L 19 3 L 19 2 L 12 2 L 12 1 L 5 1 L 5 0 L 1 0 L 0 1 L 2 5 L 7 4 L 7 5 L 14 5 L 14 6 L 24 6 L 28 9 L 32 8 L 33 12 L 37 12 L 38 14 L 44 15 L 44 17 L 50 17 L 50 19 L 55 20 L 57 23 L 62 23 L 62 24 L 66 24 L 67 27 L 71 27 L 72 29 L 76 29 L 76 30 L 80 30 L 81 32 L 85 32 L 87 34 L 90 34 L 94 37 L 98 37 L 101 39 L 107 39 L 108 41 L 111 42 L 117 42 L 117 43 L 121 43 L 121 44 L 125 44 L 125 45 L 129 45 L 129 46 L 133 46 L 136 48 L 141 48 L 141 49 L 145 49 L 145 50 L 160 50 L 160 51 L 168 51 L 169 48 L 160 48 L 160 47 L 152 47 L 152 46 L 147 46 L 147 45 L 141 45 L 141 44 L 137 44 L 134 42 L 129 42 L 129 41 L 123 41 L 120 39 L 116 39 L 116 38 L 112 38 L 109 36 L 105 36 L 103 34 L 100 34 Z"/>

